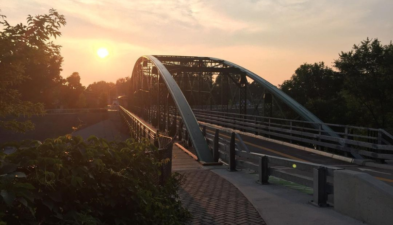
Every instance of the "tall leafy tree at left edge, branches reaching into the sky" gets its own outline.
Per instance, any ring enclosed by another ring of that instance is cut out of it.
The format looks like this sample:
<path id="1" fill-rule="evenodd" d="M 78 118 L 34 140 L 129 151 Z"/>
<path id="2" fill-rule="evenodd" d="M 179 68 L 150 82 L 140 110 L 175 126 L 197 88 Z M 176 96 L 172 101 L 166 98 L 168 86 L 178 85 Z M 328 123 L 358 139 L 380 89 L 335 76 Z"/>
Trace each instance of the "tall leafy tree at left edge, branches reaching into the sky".
<path id="1" fill-rule="evenodd" d="M 11 26 L 5 16 L 0 17 L 4 27 L 0 32 L 0 127 L 14 131 L 30 130 L 33 129 L 30 120 L 20 122 L 16 117 L 30 118 L 42 114 L 43 104 L 24 99 L 27 96 L 21 94 L 18 87 L 33 80 L 33 73 L 38 70 L 56 73 L 62 58 L 60 46 L 53 44 L 50 37 L 61 35 L 59 29 L 66 25 L 66 20 L 54 9 L 49 10 L 49 15 L 29 15 L 28 25 Z M 28 87 L 26 89 L 34 88 Z M 41 91 L 40 96 L 44 96 L 45 90 Z"/>

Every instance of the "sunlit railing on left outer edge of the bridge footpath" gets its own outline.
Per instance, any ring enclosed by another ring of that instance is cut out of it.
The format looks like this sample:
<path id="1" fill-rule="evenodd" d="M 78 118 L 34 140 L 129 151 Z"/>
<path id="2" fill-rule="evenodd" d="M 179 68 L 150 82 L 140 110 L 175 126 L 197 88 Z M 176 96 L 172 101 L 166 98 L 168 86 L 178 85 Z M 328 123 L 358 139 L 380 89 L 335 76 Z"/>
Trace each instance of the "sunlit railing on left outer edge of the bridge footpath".
<path id="1" fill-rule="evenodd" d="M 124 107 L 119 106 L 118 112 L 126 126 L 129 128 L 131 138 L 143 141 L 148 140 L 158 148 L 158 160 L 169 159 L 169 161 L 161 167 L 161 175 L 158 176 L 158 182 L 163 185 L 172 172 L 172 138 L 162 135 L 153 129 L 150 129 L 145 123 L 139 120 L 131 112 Z"/>

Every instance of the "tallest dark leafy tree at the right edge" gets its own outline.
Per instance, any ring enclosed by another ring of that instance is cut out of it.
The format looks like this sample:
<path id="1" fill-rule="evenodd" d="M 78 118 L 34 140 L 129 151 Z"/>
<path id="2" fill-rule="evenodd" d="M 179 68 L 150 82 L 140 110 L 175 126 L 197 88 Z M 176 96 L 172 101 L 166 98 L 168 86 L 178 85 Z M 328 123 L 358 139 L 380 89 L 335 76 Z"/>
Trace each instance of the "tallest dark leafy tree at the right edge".
<path id="1" fill-rule="evenodd" d="M 378 39 L 362 41 L 349 52 L 341 52 L 334 66 L 344 77 L 344 96 L 357 125 L 393 126 L 393 44 Z"/>

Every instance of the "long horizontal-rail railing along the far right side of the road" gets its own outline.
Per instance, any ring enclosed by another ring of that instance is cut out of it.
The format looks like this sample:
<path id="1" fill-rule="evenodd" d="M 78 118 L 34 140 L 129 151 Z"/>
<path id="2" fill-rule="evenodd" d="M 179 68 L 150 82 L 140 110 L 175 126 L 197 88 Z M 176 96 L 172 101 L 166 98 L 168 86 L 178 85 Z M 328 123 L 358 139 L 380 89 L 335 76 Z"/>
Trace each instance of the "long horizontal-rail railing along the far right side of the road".
<path id="1" fill-rule="evenodd" d="M 393 160 L 393 136 L 383 129 L 193 110 L 198 121 L 318 150 Z M 332 130 L 323 129 L 328 126 Z M 334 134 L 334 135 L 332 135 Z"/>

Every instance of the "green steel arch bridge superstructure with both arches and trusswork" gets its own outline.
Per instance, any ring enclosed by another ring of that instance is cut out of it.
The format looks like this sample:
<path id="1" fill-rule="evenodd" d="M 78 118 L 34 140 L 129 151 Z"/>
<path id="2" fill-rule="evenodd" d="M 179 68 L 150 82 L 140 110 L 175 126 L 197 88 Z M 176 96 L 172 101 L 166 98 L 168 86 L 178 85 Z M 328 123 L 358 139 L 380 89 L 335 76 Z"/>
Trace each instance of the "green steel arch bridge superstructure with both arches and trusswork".
<path id="1" fill-rule="evenodd" d="M 160 132 L 179 135 L 205 162 L 213 162 L 213 156 L 192 108 L 322 123 L 255 73 L 211 57 L 142 56 L 132 71 L 130 96 L 131 112 Z M 326 125 L 322 129 L 332 131 Z"/>

